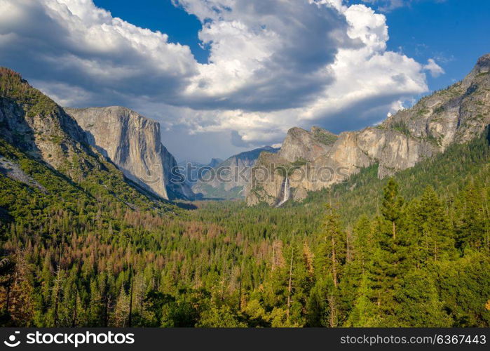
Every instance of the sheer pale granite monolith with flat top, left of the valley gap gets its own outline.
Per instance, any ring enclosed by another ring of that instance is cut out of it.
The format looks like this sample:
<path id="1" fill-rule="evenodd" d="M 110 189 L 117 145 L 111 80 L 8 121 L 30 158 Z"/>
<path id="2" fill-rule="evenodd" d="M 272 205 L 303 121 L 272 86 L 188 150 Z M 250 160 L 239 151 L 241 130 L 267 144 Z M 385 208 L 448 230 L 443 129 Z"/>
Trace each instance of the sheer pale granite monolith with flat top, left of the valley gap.
<path id="1" fill-rule="evenodd" d="M 125 107 L 65 108 L 86 133 L 90 145 L 124 175 L 163 199 L 192 199 L 176 172 L 177 161 L 161 143 L 160 124 Z"/>

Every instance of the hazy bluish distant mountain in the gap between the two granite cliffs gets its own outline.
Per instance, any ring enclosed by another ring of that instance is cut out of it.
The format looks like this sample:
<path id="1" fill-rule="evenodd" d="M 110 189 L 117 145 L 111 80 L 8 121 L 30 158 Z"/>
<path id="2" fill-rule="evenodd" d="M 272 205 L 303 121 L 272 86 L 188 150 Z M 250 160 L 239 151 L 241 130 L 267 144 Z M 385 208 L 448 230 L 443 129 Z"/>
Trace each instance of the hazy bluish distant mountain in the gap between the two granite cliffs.
<path id="1" fill-rule="evenodd" d="M 279 149 L 266 146 L 233 155 L 212 167 L 214 171 L 202 172 L 200 180 L 193 185 L 196 194 L 207 198 L 244 198 L 243 189 L 250 179 L 250 171 L 261 152 L 278 152 Z"/>

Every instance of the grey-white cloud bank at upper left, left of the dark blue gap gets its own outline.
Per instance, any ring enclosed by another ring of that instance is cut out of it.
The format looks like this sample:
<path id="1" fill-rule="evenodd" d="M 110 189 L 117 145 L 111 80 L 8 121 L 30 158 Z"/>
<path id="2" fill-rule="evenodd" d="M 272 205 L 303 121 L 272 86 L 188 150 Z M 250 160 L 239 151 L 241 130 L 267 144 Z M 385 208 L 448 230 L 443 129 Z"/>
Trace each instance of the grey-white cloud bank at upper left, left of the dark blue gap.
<path id="1" fill-rule="evenodd" d="M 83 88 L 94 99 L 170 99 L 198 72 L 188 46 L 112 18 L 91 0 L 1 0 L 0 43 L 2 65 L 52 87 Z"/>

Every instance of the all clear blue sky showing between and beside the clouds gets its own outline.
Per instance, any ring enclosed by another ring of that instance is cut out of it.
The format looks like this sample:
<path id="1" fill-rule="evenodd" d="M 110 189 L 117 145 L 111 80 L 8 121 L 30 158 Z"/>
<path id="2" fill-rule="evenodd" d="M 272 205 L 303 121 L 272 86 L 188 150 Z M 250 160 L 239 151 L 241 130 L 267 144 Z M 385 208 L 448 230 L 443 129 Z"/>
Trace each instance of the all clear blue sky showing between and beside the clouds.
<path id="1" fill-rule="evenodd" d="M 173 6 L 171 0 L 139 0 L 137 7 L 133 1 L 94 2 L 135 25 L 169 34 L 170 41 L 189 45 L 196 60 L 207 61 L 209 51 L 200 46 L 198 39 L 201 27 L 198 18 Z M 378 10 L 386 2 L 370 5 Z M 446 72 L 437 78 L 429 75 L 431 91 L 462 79 L 475 65 L 475 58 L 490 52 L 490 1 L 404 1 L 404 6 L 382 13 L 389 27 L 389 50 L 402 51 L 421 61 L 437 58 Z"/>

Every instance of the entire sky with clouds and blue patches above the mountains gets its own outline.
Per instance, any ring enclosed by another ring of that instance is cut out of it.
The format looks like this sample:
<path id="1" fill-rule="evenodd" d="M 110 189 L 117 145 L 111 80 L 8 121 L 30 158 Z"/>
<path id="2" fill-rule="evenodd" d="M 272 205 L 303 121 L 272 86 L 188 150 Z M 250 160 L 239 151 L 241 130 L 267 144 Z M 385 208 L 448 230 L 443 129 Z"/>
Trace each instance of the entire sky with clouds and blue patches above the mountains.
<path id="1" fill-rule="evenodd" d="M 487 0 L 0 0 L 0 65 L 161 123 L 177 160 L 371 126 L 490 52 Z"/>

